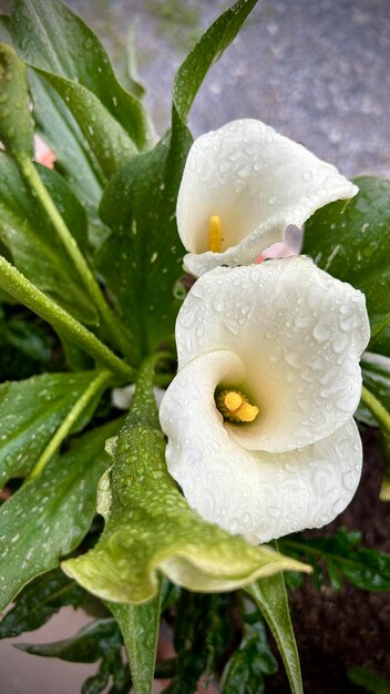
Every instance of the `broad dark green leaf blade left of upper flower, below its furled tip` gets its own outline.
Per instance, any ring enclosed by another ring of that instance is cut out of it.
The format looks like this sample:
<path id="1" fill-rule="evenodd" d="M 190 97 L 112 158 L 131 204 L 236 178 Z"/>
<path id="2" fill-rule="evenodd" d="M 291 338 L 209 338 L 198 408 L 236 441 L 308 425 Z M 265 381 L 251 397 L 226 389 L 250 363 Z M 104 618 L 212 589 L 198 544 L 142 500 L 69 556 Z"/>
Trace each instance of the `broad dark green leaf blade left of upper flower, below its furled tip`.
<path id="1" fill-rule="evenodd" d="M 183 276 L 183 246 L 175 208 L 189 144 L 187 134 L 174 145 L 167 135 L 113 177 L 100 207 L 113 234 L 98 254 L 96 266 L 145 351 L 173 334 L 184 298 L 183 287 L 181 294 L 176 288 Z"/>

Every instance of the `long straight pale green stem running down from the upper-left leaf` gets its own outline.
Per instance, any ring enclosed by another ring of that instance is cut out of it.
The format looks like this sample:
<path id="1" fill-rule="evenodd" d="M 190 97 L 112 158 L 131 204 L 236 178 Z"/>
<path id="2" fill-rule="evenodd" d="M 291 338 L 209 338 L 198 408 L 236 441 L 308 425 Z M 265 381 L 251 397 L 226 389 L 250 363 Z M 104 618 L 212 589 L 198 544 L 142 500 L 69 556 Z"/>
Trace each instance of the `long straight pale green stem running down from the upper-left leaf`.
<path id="1" fill-rule="evenodd" d="M 93 273 L 91 272 L 74 237 L 72 236 L 62 216 L 60 215 L 54 202 L 52 201 L 48 192 L 48 188 L 41 181 L 33 163 L 30 159 L 27 159 L 25 156 L 19 156 L 17 159 L 17 163 L 24 180 L 41 203 L 59 237 L 65 246 L 70 257 L 72 258 L 80 277 L 82 278 L 85 287 L 90 293 L 91 299 L 94 302 L 104 324 L 110 331 L 111 338 L 115 347 L 117 347 L 122 351 L 122 354 L 133 358 L 133 360 L 136 361 L 136 355 L 134 354 L 133 345 L 126 339 L 126 335 L 121 322 L 116 318 L 115 314 L 111 310 L 109 304 L 106 303 Z"/>

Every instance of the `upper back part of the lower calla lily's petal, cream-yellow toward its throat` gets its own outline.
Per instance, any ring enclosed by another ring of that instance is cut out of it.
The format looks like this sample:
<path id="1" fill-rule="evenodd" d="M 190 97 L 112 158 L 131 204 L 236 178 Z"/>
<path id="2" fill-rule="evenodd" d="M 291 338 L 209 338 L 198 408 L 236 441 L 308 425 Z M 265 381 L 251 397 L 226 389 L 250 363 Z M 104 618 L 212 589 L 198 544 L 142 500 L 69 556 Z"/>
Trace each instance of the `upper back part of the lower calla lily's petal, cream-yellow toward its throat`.
<path id="1" fill-rule="evenodd" d="M 239 356 L 243 382 L 232 375 L 229 385 L 260 412 L 232 436 L 270 452 L 308 446 L 350 419 L 368 339 L 363 295 L 302 256 L 206 273 L 176 323 L 179 369 L 214 350 Z"/>

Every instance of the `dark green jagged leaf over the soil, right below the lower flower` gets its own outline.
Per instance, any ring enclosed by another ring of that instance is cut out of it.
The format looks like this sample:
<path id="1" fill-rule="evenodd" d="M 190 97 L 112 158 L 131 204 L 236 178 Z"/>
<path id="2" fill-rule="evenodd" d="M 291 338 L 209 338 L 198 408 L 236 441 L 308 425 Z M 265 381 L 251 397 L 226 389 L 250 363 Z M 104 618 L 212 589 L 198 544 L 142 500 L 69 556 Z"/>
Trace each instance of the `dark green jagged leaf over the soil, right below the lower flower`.
<path id="1" fill-rule="evenodd" d="M 340 528 L 332 538 L 307 540 L 292 537 L 280 540 L 281 551 L 304 557 L 307 562 L 318 560 L 332 564 L 352 585 L 367 591 L 390 590 L 390 554 L 360 548 L 361 534 Z M 336 588 L 336 585 L 335 585 Z"/>

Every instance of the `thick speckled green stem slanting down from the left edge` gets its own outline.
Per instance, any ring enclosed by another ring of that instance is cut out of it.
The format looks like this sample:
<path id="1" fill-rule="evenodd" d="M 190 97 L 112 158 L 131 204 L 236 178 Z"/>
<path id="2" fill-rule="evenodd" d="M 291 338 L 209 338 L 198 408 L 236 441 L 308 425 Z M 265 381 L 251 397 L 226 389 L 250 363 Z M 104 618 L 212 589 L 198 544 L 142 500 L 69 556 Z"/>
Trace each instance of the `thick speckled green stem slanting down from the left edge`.
<path id="1" fill-rule="evenodd" d="M 109 347 L 90 333 L 79 320 L 61 308 L 53 299 L 40 292 L 6 258 L 0 256 L 0 287 L 18 302 L 31 308 L 38 316 L 50 323 L 55 330 L 75 343 L 91 357 L 110 371 L 134 380 L 135 370 L 114 355 Z"/>

